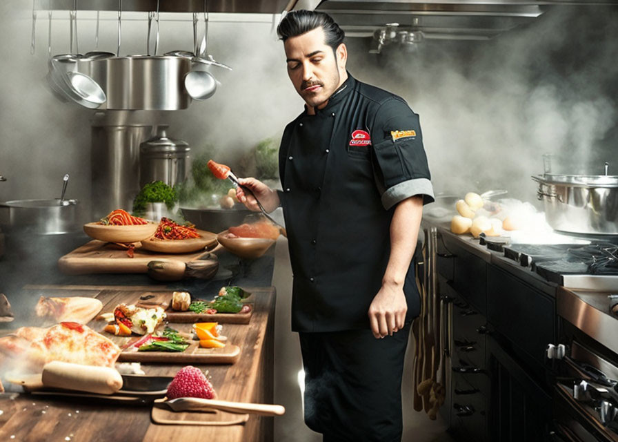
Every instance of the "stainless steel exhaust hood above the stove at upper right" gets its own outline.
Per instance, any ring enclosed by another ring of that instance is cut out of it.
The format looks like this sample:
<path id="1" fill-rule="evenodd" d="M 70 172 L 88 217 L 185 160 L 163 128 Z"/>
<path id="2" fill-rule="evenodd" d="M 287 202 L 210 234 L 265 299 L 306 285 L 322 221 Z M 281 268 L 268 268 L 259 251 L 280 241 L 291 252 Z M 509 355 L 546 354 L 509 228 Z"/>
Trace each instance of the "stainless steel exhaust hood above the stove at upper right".
<path id="1" fill-rule="evenodd" d="M 392 42 L 486 40 L 537 19 L 557 5 L 608 5 L 617 0 L 298 0 L 292 9 L 327 12 L 348 37 L 373 37 L 372 52 Z M 593 6 L 592 6 L 593 7 Z"/>

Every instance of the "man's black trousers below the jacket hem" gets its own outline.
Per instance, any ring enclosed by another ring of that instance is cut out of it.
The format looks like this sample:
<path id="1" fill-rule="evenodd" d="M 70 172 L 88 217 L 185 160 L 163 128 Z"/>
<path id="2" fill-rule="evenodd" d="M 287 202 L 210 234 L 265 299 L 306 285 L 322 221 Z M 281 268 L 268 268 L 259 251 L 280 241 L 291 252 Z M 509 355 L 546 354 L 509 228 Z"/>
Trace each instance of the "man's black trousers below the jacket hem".
<path id="1" fill-rule="evenodd" d="M 410 323 L 382 339 L 370 330 L 299 333 L 305 423 L 330 441 L 401 441 L 401 374 Z"/>

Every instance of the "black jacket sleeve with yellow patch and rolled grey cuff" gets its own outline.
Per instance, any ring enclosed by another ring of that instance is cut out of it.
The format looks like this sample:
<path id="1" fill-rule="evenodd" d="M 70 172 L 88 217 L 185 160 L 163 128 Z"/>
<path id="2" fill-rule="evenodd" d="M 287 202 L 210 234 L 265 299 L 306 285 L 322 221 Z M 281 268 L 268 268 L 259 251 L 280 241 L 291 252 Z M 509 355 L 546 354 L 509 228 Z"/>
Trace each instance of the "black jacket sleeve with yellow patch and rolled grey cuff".
<path id="1" fill-rule="evenodd" d="M 411 196 L 434 200 L 419 116 L 399 97 L 381 104 L 372 128 L 374 174 L 381 202 L 390 209 Z"/>

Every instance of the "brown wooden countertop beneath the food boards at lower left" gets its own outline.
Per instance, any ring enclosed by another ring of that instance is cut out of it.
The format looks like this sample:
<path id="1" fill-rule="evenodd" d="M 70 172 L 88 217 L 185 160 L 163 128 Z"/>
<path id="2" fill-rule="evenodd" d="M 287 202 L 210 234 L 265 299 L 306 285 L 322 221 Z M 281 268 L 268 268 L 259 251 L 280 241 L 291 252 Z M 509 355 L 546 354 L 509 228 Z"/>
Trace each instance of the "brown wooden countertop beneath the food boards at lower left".
<path id="1" fill-rule="evenodd" d="M 146 287 L 143 287 L 146 289 Z M 275 287 L 243 287 L 255 295 L 248 325 L 225 324 L 224 333 L 241 347 L 233 365 L 197 365 L 210 373 L 220 399 L 272 403 Z M 106 287 L 26 287 L 41 296 L 97 296 Z M 115 287 L 114 291 L 128 291 Z M 136 287 L 130 287 L 136 291 Z M 145 291 L 145 290 L 144 290 Z M 152 291 L 152 290 L 150 290 Z M 146 364 L 146 374 L 173 376 L 183 365 Z M 270 441 L 273 418 L 250 415 L 243 425 L 159 425 L 150 405 L 112 405 L 30 394 L 0 394 L 0 439 L 16 441 Z M 12 437 L 14 436 L 14 437 Z"/>

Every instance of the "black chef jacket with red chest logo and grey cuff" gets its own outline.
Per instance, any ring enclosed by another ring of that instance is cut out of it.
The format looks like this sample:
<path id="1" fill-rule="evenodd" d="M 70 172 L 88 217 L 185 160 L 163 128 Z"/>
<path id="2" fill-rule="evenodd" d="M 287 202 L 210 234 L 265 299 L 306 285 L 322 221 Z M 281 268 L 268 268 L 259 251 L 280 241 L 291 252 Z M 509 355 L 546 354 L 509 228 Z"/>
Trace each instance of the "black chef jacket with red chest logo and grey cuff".
<path id="1" fill-rule="evenodd" d="M 292 329 L 370 327 L 368 309 L 390 254 L 397 202 L 433 191 L 419 117 L 397 95 L 348 79 L 316 115 L 286 126 L 279 193 L 292 263 Z M 420 311 L 414 266 L 403 287 Z"/>

